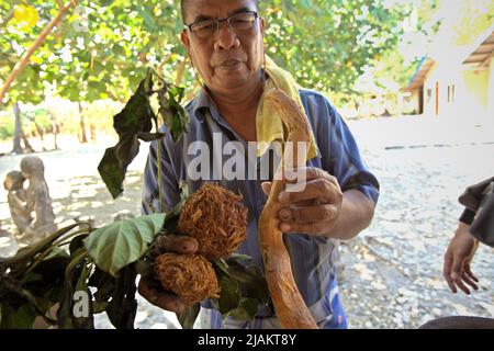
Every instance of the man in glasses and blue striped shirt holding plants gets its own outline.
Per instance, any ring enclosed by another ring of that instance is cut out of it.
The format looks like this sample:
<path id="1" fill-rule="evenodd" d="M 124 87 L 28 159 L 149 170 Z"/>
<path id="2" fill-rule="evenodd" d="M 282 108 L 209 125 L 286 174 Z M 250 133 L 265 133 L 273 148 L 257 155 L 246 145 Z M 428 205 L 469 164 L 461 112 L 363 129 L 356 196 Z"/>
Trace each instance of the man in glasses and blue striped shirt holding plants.
<path id="1" fill-rule="evenodd" d="M 167 137 L 159 144 L 165 208 L 159 205 L 157 144 L 151 146 L 145 171 L 143 210 L 145 213 L 170 210 L 179 201 L 181 180 L 187 180 L 192 191 L 203 181 L 217 180 L 221 185 L 242 193 L 249 218 L 247 239 L 239 252 L 252 257 L 262 268 L 258 220 L 270 190 L 270 182 L 262 180 L 270 178 L 215 178 L 214 171 L 222 168 L 222 162 L 224 166 L 225 156 L 214 152 L 209 159 L 211 165 L 206 165 L 206 173 L 213 176 L 191 180 L 190 166 L 194 160 L 190 146 L 200 141 L 217 150 L 217 143 L 223 149 L 234 141 L 237 152 L 242 154 L 249 141 L 265 140 L 260 137 L 266 136 L 265 128 L 276 124 L 274 118 L 271 121 L 271 116 L 261 111 L 265 88 L 277 86 L 273 80 L 279 72 L 263 69 L 265 21 L 257 14 L 255 0 L 183 0 L 181 5 L 186 23 L 181 39 L 203 80 L 203 90 L 187 106 L 191 117 L 189 133 L 178 143 Z M 287 78 L 283 81 L 290 90 L 295 84 L 287 75 L 280 73 L 277 78 Z M 280 202 L 284 206 L 279 213 L 280 230 L 285 233 L 294 279 L 315 321 L 321 328 L 345 328 L 334 265 L 337 244 L 355 237 L 370 224 L 379 183 L 363 165 L 352 135 L 327 99 L 308 90 L 295 91 L 293 99 L 300 101 L 313 129 L 317 146 L 317 155 L 313 156 L 318 157 L 311 158 L 304 169 L 303 191 L 281 193 Z M 269 136 L 268 140 L 271 141 Z M 244 150 L 239 149 L 242 146 Z M 261 152 L 254 163 L 261 163 L 263 157 L 269 157 L 269 152 Z M 251 159 L 247 159 L 247 163 L 251 167 Z M 170 237 L 164 245 L 165 249 L 178 252 L 197 250 L 197 242 L 189 238 Z M 146 280 L 139 284 L 139 293 L 165 309 L 177 312 L 183 307 L 178 297 L 159 292 Z M 207 302 L 202 303 L 198 325 L 204 328 L 279 327 L 272 310 L 259 312 L 255 321 L 243 322 L 222 319 Z"/>

